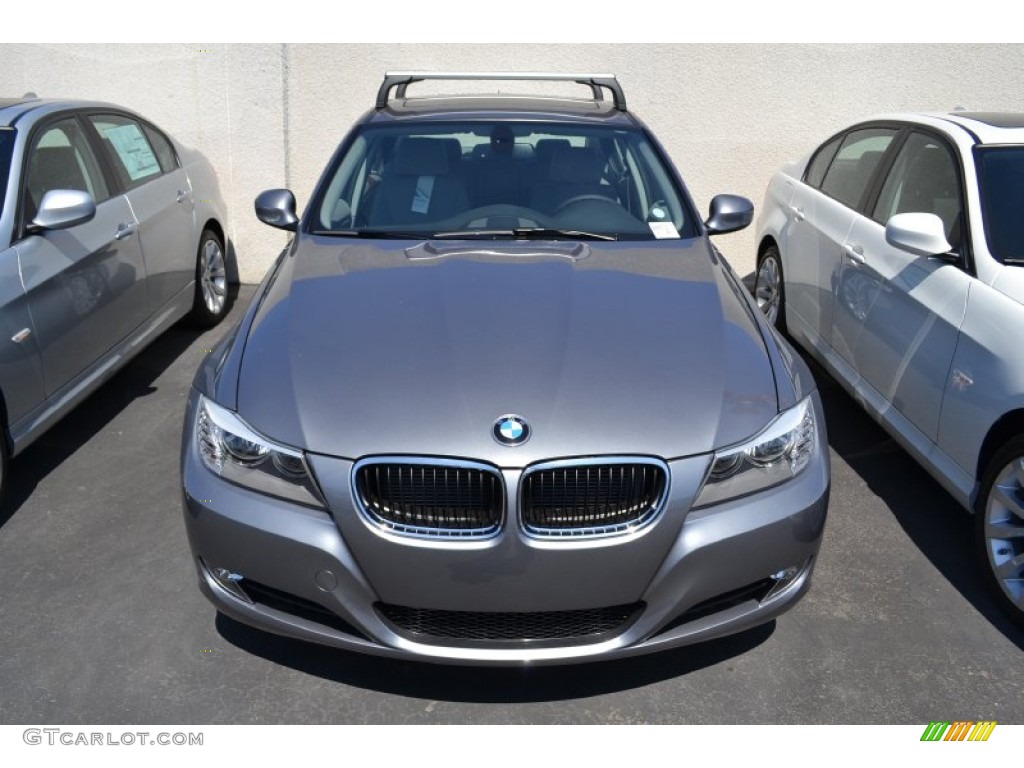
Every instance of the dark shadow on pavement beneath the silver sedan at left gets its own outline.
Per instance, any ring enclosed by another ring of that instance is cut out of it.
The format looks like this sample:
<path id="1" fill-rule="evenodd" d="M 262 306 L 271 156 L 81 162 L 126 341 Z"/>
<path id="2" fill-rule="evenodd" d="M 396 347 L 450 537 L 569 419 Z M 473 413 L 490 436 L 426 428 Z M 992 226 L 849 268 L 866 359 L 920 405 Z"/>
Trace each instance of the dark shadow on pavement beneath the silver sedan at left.
<path id="1" fill-rule="evenodd" d="M 8 487 L 0 505 L 0 527 L 13 517 L 50 472 L 86 446 L 134 400 L 156 391 L 154 382 L 203 333 L 202 329 L 183 324 L 173 326 L 12 459 L 7 467 Z"/>

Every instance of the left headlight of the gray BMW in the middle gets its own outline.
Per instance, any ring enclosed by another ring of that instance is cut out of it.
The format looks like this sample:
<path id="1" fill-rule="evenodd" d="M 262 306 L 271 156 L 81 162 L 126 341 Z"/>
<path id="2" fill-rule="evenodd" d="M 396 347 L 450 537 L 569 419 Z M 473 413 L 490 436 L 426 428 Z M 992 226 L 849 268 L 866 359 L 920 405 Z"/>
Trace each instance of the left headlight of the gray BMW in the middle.
<path id="1" fill-rule="evenodd" d="M 324 507 L 301 451 L 258 434 L 238 415 L 200 395 L 196 450 L 225 480 L 309 507 Z"/>

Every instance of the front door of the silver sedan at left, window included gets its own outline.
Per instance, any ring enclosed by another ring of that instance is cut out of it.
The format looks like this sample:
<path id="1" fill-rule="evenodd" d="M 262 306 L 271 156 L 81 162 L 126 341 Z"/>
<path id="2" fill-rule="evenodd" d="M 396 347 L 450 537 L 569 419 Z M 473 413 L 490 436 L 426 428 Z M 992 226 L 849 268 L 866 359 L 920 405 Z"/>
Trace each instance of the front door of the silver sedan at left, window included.
<path id="1" fill-rule="evenodd" d="M 66 229 L 35 229 L 50 189 L 89 193 L 96 213 Z M 14 243 L 42 360 L 46 395 L 67 385 L 146 315 L 137 222 L 76 117 L 37 129 L 26 155 Z"/>

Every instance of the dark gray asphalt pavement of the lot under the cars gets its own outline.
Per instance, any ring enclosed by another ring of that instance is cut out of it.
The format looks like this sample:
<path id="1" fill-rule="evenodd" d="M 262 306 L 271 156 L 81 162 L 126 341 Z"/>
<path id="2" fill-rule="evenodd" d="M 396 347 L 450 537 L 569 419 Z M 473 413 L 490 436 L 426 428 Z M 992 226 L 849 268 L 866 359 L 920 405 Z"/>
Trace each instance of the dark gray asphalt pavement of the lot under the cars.
<path id="1" fill-rule="evenodd" d="M 741 635 L 532 669 L 396 663 L 223 616 L 196 586 L 178 446 L 231 315 L 175 328 L 14 460 L 0 509 L 2 723 L 1024 723 L 1024 633 L 971 519 L 826 375 L 833 459 L 808 596 Z"/>

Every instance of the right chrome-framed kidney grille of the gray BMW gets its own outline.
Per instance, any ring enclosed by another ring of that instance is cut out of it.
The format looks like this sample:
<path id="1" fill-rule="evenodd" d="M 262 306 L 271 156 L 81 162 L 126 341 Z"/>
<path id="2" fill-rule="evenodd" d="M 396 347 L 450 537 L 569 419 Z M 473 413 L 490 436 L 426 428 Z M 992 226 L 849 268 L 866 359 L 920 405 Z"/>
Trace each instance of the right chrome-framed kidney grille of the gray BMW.
<path id="1" fill-rule="evenodd" d="M 634 534 L 657 518 L 669 483 L 669 465 L 650 457 L 535 464 L 519 481 L 519 519 L 523 530 L 538 539 Z"/>

